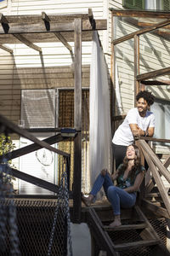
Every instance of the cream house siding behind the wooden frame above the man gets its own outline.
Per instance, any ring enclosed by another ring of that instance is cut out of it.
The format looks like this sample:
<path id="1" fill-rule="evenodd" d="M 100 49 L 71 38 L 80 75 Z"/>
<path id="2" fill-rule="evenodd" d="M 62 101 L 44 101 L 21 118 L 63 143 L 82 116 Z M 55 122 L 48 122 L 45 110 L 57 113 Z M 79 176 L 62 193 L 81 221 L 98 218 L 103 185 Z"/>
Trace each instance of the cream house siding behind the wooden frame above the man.
<path id="1" fill-rule="evenodd" d="M 109 8 L 122 9 L 122 0 L 110 0 Z M 120 38 L 131 32 L 135 32 L 138 28 L 126 24 L 119 18 L 114 18 L 116 23 L 116 38 Z M 108 53 L 111 53 L 111 11 L 108 12 L 108 38 L 109 48 Z M 157 20 L 159 22 L 159 20 Z M 115 27 L 114 27 L 115 28 Z M 170 43 L 167 40 L 156 37 L 153 34 L 147 33 L 144 36 L 140 36 L 140 71 L 139 73 L 147 73 L 164 67 L 169 67 L 169 46 Z M 152 52 L 148 53 L 147 50 L 151 49 Z M 159 57 L 160 56 L 160 57 Z M 111 62 L 111 61 L 110 61 Z M 122 98 L 122 111 L 127 111 L 133 107 L 133 39 L 127 40 L 122 44 L 116 45 L 116 63 L 118 67 L 118 80 Z M 159 77 L 159 79 L 169 79 L 169 76 Z M 167 86 L 147 86 L 147 90 L 150 90 L 158 98 L 169 100 L 170 90 L 167 90 Z"/>

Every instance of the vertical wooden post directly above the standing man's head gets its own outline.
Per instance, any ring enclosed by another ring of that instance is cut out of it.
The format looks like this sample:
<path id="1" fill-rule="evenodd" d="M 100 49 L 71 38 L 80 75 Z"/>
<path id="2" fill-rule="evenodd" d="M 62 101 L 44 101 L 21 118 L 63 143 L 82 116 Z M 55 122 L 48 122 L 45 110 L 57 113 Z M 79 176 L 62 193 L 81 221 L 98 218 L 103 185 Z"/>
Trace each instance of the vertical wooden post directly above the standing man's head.
<path id="1" fill-rule="evenodd" d="M 136 95 L 139 93 L 139 81 L 136 77 L 139 74 L 139 36 L 134 35 L 134 106 L 136 106 Z"/>

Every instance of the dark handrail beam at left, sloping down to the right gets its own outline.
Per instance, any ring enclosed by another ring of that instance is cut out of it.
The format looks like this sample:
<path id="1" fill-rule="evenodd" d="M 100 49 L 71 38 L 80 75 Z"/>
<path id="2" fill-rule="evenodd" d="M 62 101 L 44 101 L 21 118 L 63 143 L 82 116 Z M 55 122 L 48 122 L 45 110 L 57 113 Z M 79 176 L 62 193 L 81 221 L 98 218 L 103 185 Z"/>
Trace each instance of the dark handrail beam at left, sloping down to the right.
<path id="1" fill-rule="evenodd" d="M 26 137 L 27 139 L 31 140 L 33 143 L 37 143 L 42 148 L 47 148 L 48 150 L 53 151 L 54 153 L 61 154 L 66 157 L 70 157 L 70 154 L 63 153 L 63 151 L 50 146 L 48 143 L 38 140 L 37 137 L 34 137 L 28 131 L 21 129 L 18 125 L 15 125 L 14 123 L 6 119 L 2 114 L 0 114 L 0 132 L 3 133 L 5 131 L 7 131 L 8 133 L 15 132 L 20 136 Z"/>

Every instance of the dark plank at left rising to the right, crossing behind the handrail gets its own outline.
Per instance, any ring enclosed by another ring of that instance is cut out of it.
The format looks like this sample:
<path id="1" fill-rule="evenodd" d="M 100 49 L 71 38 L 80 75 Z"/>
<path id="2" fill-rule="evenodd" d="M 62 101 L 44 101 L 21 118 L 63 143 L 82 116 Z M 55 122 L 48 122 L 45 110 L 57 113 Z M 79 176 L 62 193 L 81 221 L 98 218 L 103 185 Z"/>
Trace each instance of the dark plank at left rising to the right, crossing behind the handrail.
<path id="1" fill-rule="evenodd" d="M 49 145 L 52 145 L 54 143 L 59 143 L 63 140 L 64 140 L 64 138 L 60 134 L 57 134 L 57 135 L 54 135 L 53 137 L 48 137 L 48 138 L 44 139 L 43 142 L 48 143 Z M 7 153 L 7 154 L 0 155 L 0 162 L 4 158 L 6 160 L 13 160 L 16 157 L 20 157 L 22 155 L 29 154 L 35 150 L 40 149 L 40 148 L 42 148 L 42 147 L 40 145 L 37 145 L 37 143 L 32 143 L 31 145 L 28 145 L 26 147 L 19 148 L 12 152 Z"/>

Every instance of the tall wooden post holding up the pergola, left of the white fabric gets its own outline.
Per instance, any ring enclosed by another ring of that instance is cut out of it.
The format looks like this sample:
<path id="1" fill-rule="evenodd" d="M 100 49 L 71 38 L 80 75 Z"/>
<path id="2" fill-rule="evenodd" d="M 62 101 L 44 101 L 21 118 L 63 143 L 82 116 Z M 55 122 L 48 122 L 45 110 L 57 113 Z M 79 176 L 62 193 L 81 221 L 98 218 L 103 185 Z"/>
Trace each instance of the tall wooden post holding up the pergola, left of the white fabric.
<path id="1" fill-rule="evenodd" d="M 74 126 L 77 137 L 74 141 L 74 182 L 73 182 L 73 221 L 81 221 L 82 189 L 82 19 L 75 19 L 75 88 Z"/>

